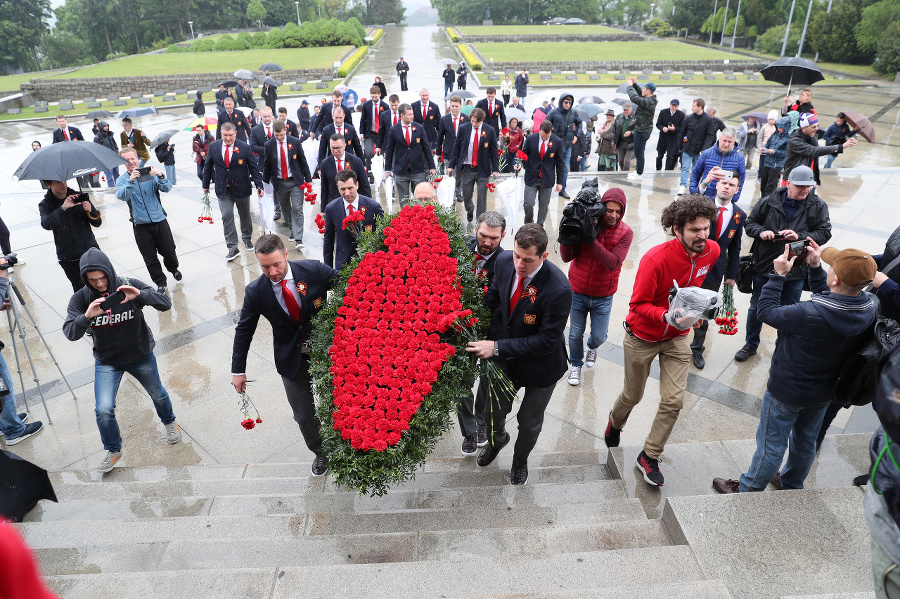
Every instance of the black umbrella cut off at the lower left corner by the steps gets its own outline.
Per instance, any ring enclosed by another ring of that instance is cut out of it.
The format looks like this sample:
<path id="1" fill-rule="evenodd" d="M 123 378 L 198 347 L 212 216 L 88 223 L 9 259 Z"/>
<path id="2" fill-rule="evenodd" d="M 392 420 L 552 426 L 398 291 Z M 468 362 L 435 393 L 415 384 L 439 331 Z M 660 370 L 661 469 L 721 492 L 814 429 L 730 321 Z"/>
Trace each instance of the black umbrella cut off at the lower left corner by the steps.
<path id="1" fill-rule="evenodd" d="M 56 501 L 47 471 L 14 453 L 0 450 L 0 516 L 21 522 L 41 499 Z"/>

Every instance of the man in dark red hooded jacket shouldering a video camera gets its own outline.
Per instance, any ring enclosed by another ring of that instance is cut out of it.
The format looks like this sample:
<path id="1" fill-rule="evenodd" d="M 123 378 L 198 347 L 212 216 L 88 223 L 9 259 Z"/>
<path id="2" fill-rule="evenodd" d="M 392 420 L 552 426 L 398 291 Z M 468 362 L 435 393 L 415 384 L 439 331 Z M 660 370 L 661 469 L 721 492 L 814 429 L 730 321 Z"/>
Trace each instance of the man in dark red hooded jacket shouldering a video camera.
<path id="1" fill-rule="evenodd" d="M 606 206 L 600 234 L 593 243 L 560 245 L 563 262 L 569 265 L 572 285 L 572 311 L 569 314 L 569 384 L 581 382 L 581 368 L 597 361 L 597 348 L 606 341 L 612 298 L 619 287 L 622 262 L 628 255 L 634 232 L 622 222 L 625 216 L 625 192 L 612 187 L 600 201 Z M 584 355 L 584 330 L 591 315 L 591 336 Z"/>

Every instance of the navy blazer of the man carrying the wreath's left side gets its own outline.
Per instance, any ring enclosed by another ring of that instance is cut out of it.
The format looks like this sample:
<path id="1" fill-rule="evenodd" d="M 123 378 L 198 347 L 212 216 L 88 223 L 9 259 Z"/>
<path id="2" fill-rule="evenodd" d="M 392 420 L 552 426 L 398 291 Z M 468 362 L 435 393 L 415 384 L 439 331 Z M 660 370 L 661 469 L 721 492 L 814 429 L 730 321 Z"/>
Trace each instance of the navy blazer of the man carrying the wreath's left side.
<path id="1" fill-rule="evenodd" d="M 234 346 L 231 351 L 231 372 L 247 372 L 247 354 L 259 317 L 264 316 L 272 325 L 275 369 L 288 378 L 297 376 L 300 370 L 303 342 L 312 332 L 310 321 L 325 305 L 326 292 L 333 288 L 339 273 L 318 260 L 288 262 L 294 276 L 294 285 L 300 296 L 300 322 L 298 323 L 278 303 L 272 282 L 265 275 L 247 285 L 244 304 L 237 327 L 234 330 Z"/>

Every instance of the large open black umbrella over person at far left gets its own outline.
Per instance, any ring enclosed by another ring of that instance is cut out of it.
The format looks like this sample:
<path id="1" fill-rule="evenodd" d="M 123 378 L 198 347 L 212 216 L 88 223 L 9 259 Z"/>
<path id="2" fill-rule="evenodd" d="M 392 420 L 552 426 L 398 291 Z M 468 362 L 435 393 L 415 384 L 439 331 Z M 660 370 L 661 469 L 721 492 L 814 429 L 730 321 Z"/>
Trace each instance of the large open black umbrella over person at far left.
<path id="1" fill-rule="evenodd" d="M 44 146 L 31 152 L 19 165 L 13 177 L 44 181 L 68 181 L 97 171 L 111 171 L 125 160 L 106 146 L 85 141 L 72 141 Z"/>

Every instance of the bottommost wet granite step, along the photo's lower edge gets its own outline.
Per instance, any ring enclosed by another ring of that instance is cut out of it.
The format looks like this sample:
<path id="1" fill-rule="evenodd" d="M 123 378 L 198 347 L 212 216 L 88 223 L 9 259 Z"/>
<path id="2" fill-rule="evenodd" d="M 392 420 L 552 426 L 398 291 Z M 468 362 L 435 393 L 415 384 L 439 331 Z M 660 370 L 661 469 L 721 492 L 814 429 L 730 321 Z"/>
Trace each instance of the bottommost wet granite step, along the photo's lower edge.
<path id="1" fill-rule="evenodd" d="M 353 564 L 298 568 L 222 568 L 203 576 L 185 570 L 49 576 L 65 599 L 397 599 L 398 597 L 489 597 L 567 589 L 607 589 L 617 597 L 640 597 L 647 572 L 655 586 L 693 588 L 703 574 L 687 547 L 653 547 L 566 553 L 542 559 L 494 557 L 456 561 Z M 542 592 L 546 592 L 544 595 Z M 626 594 L 629 593 L 629 594 Z M 601 597 L 603 595 L 600 595 Z M 676 595 L 677 596 L 677 595 Z"/>

